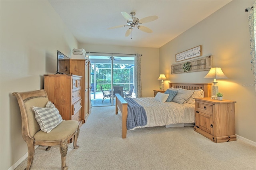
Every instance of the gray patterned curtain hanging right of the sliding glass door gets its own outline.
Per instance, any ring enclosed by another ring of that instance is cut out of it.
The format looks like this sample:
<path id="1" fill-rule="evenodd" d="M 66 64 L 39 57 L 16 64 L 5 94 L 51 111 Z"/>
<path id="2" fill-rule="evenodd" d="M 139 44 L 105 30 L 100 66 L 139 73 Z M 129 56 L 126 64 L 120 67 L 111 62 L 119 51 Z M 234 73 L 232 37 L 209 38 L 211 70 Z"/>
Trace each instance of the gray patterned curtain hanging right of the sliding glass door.
<path id="1" fill-rule="evenodd" d="M 141 73 L 140 73 L 140 54 L 135 56 L 134 61 L 134 79 L 135 79 L 135 90 L 136 97 L 142 97 L 142 88 L 141 88 Z"/>

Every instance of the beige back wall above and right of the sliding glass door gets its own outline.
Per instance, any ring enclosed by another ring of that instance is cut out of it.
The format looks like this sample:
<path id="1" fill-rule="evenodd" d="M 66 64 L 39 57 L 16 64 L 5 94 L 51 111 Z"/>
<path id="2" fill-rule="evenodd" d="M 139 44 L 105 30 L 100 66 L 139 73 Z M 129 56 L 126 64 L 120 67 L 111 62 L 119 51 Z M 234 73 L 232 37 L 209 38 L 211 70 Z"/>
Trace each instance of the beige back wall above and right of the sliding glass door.
<path id="1" fill-rule="evenodd" d="M 130 40 L 128 40 L 130 41 Z M 141 56 L 141 82 L 142 96 L 153 97 L 153 89 L 159 89 L 159 48 L 146 47 L 126 47 L 117 45 L 93 45 L 80 44 L 87 52 L 104 52 L 104 53 L 140 53 Z"/>

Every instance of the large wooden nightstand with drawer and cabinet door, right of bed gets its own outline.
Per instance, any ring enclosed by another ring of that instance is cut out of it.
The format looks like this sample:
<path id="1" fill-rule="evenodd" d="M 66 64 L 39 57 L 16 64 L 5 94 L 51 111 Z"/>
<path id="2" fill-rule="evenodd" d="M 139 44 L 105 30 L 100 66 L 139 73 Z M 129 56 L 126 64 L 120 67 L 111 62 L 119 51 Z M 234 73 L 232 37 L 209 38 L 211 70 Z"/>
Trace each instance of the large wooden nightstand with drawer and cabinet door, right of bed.
<path id="1" fill-rule="evenodd" d="M 194 130 L 215 143 L 236 140 L 235 103 L 214 100 L 210 97 L 195 98 L 196 125 Z"/>

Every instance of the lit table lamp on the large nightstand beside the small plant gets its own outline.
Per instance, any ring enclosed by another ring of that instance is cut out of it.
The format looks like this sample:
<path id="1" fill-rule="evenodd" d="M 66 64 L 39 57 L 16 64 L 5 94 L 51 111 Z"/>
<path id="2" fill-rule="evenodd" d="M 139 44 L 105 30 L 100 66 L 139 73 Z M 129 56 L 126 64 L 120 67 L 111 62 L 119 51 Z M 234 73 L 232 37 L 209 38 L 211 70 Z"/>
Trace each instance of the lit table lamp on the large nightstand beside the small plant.
<path id="1" fill-rule="evenodd" d="M 218 93 L 218 86 L 217 86 L 218 81 L 216 81 L 216 79 L 227 79 L 228 77 L 224 75 L 220 67 L 212 67 L 208 72 L 208 74 L 204 76 L 204 78 L 214 79 L 214 81 L 212 82 L 213 83 L 212 95 L 216 97 L 216 94 Z"/>

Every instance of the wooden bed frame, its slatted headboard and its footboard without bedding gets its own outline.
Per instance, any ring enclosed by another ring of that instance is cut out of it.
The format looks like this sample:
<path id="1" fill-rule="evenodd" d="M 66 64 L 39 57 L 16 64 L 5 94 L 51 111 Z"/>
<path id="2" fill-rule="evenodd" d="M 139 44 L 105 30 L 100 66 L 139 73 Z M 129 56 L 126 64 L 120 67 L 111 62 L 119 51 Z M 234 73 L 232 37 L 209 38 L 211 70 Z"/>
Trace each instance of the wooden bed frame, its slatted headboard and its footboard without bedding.
<path id="1" fill-rule="evenodd" d="M 169 83 L 169 88 L 173 87 L 187 90 L 202 89 L 204 90 L 204 97 L 211 97 L 211 85 L 212 83 Z M 116 94 L 116 115 L 118 114 L 118 111 L 122 115 L 122 138 L 126 138 L 127 134 L 127 105 L 128 103 L 126 102 L 126 100 L 124 100 L 124 98 L 121 95 Z"/>

